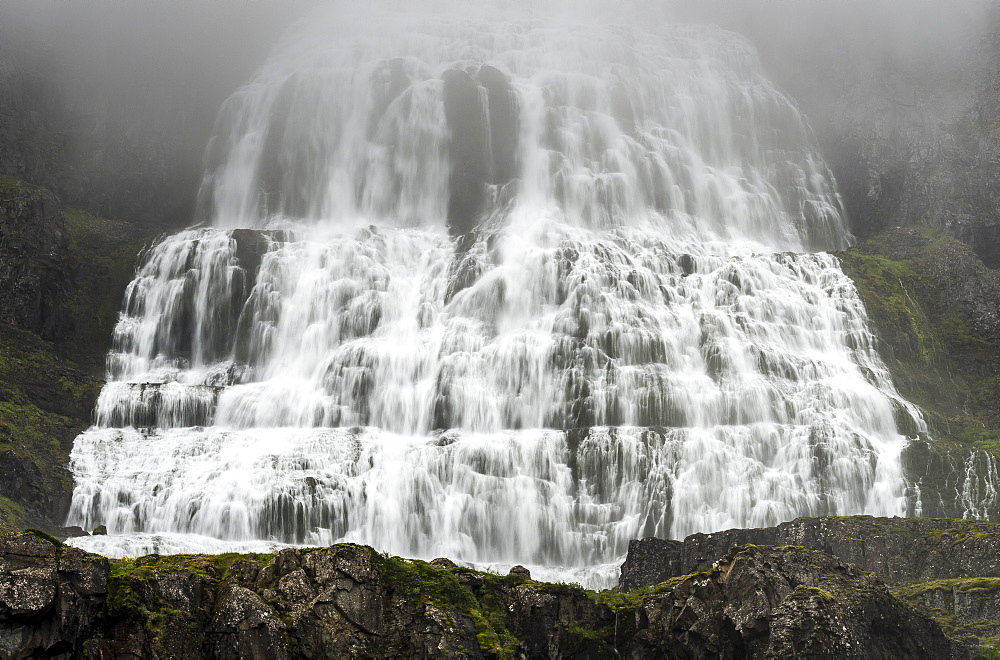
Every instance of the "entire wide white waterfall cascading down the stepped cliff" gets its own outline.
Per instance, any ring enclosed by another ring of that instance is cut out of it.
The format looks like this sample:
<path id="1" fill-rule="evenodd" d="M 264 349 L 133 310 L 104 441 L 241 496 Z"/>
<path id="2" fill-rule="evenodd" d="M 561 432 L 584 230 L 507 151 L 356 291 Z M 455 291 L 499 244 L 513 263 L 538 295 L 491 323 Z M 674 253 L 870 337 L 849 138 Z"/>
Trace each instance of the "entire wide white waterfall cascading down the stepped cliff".
<path id="1" fill-rule="evenodd" d="M 740 37 L 318 21 L 208 161 L 211 226 L 146 257 L 73 450 L 88 549 L 349 540 L 606 586 L 633 538 L 906 511 L 922 419 Z"/>

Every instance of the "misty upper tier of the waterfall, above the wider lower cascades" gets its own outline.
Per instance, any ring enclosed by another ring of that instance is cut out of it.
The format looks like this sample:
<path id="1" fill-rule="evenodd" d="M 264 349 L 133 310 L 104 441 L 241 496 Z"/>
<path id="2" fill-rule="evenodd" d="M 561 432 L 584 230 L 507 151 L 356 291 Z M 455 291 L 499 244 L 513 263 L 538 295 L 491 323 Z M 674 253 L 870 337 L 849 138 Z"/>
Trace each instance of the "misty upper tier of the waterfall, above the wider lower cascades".
<path id="1" fill-rule="evenodd" d="M 327 14 L 224 104 L 199 212 L 452 235 L 517 212 L 652 225 L 687 249 L 842 249 L 814 143 L 753 46 L 718 28 Z"/>

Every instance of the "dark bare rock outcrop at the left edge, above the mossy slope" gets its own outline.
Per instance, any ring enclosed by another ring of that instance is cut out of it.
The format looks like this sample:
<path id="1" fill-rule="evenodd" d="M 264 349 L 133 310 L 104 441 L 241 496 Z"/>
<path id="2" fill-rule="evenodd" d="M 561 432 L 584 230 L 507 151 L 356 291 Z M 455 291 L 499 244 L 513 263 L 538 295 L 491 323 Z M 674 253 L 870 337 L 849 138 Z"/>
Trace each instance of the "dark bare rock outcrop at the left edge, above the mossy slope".
<path id="1" fill-rule="evenodd" d="M 64 334 L 66 229 L 52 193 L 0 178 L 0 322 L 46 339 Z"/>

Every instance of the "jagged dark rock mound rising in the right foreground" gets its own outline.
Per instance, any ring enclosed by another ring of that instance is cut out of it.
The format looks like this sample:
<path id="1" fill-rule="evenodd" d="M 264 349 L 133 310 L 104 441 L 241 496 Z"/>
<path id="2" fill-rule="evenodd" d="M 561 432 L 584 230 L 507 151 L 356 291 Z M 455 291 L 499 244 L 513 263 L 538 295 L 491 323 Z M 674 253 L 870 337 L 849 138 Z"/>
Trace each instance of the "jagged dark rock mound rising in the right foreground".
<path id="1" fill-rule="evenodd" d="M 630 657 L 653 657 L 643 652 L 670 635 L 673 657 L 970 656 L 875 576 L 804 548 L 734 549 L 647 602 L 637 627 L 643 618 Z"/>

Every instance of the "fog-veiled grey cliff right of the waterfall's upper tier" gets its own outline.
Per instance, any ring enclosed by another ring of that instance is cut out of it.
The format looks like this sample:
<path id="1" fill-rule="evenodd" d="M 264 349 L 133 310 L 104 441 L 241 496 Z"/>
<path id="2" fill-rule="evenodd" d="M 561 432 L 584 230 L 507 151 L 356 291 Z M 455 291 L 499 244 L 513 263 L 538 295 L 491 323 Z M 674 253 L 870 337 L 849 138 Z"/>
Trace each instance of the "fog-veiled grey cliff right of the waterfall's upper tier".
<path id="1" fill-rule="evenodd" d="M 906 38 L 815 48 L 801 37 L 757 42 L 809 116 L 856 236 L 935 227 L 996 267 L 1000 14 L 948 30 L 939 25 L 933 39 L 907 46 Z"/>

